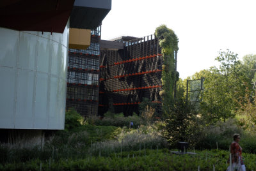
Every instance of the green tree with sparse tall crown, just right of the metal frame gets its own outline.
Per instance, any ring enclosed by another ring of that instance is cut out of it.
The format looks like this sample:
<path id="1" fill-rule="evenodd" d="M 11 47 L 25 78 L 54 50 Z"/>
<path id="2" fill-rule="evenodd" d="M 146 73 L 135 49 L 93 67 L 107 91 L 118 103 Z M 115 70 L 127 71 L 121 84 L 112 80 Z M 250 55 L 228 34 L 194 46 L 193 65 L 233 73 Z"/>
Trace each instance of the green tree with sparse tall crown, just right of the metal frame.
<path id="1" fill-rule="evenodd" d="M 234 117 L 234 111 L 239 107 L 237 99 L 244 96 L 247 85 L 237 54 L 230 50 L 221 51 L 216 60 L 220 66 L 211 67 L 211 74 L 205 77 L 204 99 L 200 105 L 203 116 L 210 123 Z"/>

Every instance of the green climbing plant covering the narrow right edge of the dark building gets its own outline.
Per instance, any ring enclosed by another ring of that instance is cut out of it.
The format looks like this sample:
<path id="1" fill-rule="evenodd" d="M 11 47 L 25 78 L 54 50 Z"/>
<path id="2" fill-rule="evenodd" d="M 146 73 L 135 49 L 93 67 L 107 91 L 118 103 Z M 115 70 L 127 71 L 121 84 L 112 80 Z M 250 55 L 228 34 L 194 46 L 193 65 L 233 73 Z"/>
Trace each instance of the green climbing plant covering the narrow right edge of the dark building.
<path id="1" fill-rule="evenodd" d="M 164 114 L 167 115 L 168 108 L 172 108 L 174 104 L 175 82 L 179 80 L 179 73 L 175 71 L 175 54 L 179 50 L 179 39 L 172 29 L 169 29 L 166 25 L 157 27 L 155 35 L 159 39 L 163 54 L 163 91 L 161 91 L 161 95 L 163 96 Z"/>

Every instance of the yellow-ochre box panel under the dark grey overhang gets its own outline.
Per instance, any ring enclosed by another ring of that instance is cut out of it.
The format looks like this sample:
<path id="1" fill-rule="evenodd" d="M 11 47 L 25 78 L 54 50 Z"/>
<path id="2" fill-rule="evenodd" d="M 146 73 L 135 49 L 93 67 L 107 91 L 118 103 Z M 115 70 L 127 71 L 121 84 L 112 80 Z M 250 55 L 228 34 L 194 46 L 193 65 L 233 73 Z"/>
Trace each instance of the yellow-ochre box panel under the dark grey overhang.
<path id="1" fill-rule="evenodd" d="M 76 49 L 86 49 L 90 46 L 91 30 L 88 29 L 69 29 L 69 47 Z"/>

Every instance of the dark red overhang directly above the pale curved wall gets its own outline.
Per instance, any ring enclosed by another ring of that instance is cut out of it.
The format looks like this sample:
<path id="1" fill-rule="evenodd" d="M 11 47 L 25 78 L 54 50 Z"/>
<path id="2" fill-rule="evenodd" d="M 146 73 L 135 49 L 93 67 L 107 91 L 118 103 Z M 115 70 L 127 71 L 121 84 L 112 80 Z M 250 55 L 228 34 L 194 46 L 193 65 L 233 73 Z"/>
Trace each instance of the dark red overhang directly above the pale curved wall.
<path id="1" fill-rule="evenodd" d="M 63 33 L 74 0 L 1 0 L 0 27 Z"/>

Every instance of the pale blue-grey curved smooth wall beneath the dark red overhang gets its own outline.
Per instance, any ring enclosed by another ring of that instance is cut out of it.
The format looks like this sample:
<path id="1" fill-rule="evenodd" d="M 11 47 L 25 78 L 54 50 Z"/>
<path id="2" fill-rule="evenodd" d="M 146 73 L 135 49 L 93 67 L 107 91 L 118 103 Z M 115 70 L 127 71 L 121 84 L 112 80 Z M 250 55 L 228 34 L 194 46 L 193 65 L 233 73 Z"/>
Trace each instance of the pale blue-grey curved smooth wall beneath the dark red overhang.
<path id="1" fill-rule="evenodd" d="M 63 34 L 0 27 L 0 128 L 64 129 L 68 26 Z"/>

